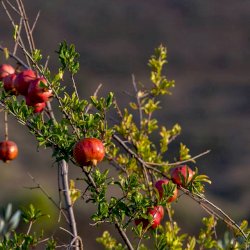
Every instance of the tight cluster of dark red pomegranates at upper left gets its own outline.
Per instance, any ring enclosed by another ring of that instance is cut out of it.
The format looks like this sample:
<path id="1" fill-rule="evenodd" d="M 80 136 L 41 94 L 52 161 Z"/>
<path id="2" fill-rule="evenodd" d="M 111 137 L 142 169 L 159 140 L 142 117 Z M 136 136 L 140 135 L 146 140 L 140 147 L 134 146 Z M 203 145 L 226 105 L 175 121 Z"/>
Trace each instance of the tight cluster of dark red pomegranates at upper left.
<path id="1" fill-rule="evenodd" d="M 48 88 L 46 80 L 31 69 L 17 73 L 11 65 L 2 64 L 0 81 L 3 81 L 4 89 L 9 94 L 24 96 L 26 104 L 33 107 L 34 113 L 42 112 L 52 97 L 52 90 Z"/>

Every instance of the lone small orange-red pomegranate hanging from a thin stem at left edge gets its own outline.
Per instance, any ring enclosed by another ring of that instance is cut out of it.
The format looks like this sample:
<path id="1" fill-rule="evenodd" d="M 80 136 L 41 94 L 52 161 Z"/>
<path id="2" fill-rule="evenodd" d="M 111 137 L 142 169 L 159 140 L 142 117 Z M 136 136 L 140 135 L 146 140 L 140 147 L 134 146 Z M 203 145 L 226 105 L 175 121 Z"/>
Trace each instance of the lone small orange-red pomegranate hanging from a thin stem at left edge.
<path id="1" fill-rule="evenodd" d="M 18 147 L 13 141 L 0 142 L 0 159 L 3 162 L 14 160 L 18 155 Z"/>

